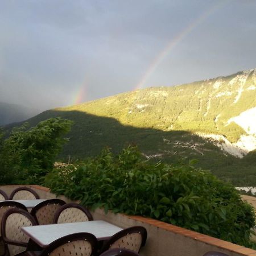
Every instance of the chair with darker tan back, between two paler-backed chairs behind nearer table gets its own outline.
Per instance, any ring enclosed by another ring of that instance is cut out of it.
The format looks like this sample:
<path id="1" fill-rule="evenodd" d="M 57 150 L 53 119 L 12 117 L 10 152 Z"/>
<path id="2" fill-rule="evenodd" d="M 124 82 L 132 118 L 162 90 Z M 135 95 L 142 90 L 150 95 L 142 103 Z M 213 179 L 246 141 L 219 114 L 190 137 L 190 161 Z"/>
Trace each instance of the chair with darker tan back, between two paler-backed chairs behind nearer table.
<path id="1" fill-rule="evenodd" d="M 63 200 L 49 199 L 36 205 L 30 213 L 39 225 L 53 224 L 57 210 L 64 204 Z"/>

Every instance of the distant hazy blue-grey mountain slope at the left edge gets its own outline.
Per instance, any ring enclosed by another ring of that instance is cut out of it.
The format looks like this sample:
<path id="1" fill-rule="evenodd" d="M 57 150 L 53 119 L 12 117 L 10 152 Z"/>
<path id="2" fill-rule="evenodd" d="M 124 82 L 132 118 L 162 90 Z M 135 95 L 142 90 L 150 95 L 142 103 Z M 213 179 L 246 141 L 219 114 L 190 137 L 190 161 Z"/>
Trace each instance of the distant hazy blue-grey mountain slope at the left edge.
<path id="1" fill-rule="evenodd" d="M 0 102 L 0 125 L 23 121 L 36 113 L 36 110 L 31 110 L 18 104 Z"/>

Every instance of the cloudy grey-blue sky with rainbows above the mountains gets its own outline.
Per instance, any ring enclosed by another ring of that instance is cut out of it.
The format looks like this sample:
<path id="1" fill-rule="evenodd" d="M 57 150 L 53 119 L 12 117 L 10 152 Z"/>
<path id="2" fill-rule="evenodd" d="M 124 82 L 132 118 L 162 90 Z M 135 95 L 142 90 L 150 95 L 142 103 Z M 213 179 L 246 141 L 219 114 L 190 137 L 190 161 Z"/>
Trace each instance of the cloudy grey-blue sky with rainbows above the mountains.
<path id="1" fill-rule="evenodd" d="M 0 101 L 42 112 L 256 68 L 254 0 L 0 0 Z"/>

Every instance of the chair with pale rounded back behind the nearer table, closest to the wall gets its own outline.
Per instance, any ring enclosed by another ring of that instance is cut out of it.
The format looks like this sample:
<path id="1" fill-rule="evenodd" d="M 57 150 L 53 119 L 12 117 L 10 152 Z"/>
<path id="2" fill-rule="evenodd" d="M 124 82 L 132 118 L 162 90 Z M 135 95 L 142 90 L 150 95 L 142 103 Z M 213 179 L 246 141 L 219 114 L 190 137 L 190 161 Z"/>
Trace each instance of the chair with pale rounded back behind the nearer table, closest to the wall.
<path id="1" fill-rule="evenodd" d="M 93 220 L 89 210 L 80 204 L 70 203 L 60 207 L 54 217 L 53 223 L 71 223 Z"/>

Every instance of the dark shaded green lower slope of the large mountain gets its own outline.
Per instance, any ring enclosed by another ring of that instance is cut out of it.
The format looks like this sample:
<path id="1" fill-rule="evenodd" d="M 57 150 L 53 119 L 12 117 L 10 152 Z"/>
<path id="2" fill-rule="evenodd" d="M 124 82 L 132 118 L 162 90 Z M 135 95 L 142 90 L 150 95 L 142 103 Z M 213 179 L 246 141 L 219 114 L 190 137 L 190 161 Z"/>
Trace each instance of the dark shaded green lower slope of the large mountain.
<path id="1" fill-rule="evenodd" d="M 224 155 L 207 139 L 188 131 L 162 131 L 125 126 L 114 118 L 99 117 L 78 111 L 48 110 L 28 119 L 27 122 L 30 126 L 35 126 L 38 122 L 51 117 L 62 117 L 74 122 L 71 132 L 67 135 L 69 142 L 65 144 L 60 154 L 60 159 L 64 162 L 67 162 L 68 155 L 71 155 L 73 160 L 82 159 L 100 154 L 102 148 L 106 146 L 117 153 L 129 144 L 136 144 L 144 155 L 152 156 L 153 161 L 175 163 L 183 158 L 198 159 L 197 166 L 211 170 L 214 174 L 233 183 L 237 183 L 234 181 L 234 172 L 239 172 L 236 179 L 240 180 L 240 184 L 241 179 L 256 182 L 255 174 L 250 171 L 250 175 L 245 178 L 245 172 L 238 164 L 239 159 Z M 7 128 L 11 129 L 11 126 L 19 125 L 21 123 L 15 123 Z M 235 166 L 237 171 L 234 170 Z"/>

